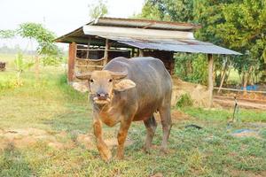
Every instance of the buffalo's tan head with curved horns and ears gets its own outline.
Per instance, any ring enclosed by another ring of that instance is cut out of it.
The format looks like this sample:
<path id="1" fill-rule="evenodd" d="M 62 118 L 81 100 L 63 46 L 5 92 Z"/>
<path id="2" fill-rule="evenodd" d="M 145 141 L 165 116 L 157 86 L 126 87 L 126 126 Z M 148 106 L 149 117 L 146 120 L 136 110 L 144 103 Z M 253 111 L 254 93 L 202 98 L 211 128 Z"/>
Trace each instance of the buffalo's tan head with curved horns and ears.
<path id="1" fill-rule="evenodd" d="M 136 87 L 134 81 L 125 79 L 127 75 L 127 72 L 103 70 L 76 74 L 76 78 L 89 81 L 90 96 L 95 104 L 108 104 L 111 102 L 113 90 L 124 91 Z"/>

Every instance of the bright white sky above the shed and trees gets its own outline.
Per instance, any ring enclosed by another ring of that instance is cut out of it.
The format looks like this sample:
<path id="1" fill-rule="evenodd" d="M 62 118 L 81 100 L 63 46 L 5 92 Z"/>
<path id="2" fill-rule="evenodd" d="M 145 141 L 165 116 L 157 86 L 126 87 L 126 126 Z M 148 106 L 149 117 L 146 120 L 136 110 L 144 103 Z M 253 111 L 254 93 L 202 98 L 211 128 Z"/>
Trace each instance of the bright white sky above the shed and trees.
<path id="1" fill-rule="evenodd" d="M 107 17 L 128 18 L 141 12 L 145 0 L 106 1 Z M 94 0 L 0 0 L 0 29 L 15 29 L 21 23 L 36 22 L 58 36 L 65 35 L 90 21 L 88 4 L 92 2 Z M 23 42 L 15 40 L 14 43 L 25 46 Z M 4 43 L 6 41 L 0 41 L 0 46 Z"/>

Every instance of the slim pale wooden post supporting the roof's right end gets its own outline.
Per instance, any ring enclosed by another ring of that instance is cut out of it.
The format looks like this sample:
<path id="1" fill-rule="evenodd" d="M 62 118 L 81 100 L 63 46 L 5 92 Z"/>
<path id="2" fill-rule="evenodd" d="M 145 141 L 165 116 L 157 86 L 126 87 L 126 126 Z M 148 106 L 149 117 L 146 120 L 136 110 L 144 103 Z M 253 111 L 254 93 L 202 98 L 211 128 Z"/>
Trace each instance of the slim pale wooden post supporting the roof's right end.
<path id="1" fill-rule="evenodd" d="M 208 91 L 209 91 L 209 104 L 208 107 L 211 108 L 213 104 L 213 90 L 214 90 L 214 58 L 212 54 L 207 54 L 207 70 L 208 70 Z"/>

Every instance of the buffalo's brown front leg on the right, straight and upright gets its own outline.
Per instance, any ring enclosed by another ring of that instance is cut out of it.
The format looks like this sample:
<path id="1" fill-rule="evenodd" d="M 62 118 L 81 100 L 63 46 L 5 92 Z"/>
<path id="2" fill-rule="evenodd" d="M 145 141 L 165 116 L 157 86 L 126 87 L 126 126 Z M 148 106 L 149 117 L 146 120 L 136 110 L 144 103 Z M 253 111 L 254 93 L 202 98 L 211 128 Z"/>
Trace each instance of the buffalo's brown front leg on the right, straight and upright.
<path id="1" fill-rule="evenodd" d="M 118 147 L 117 147 L 117 154 L 116 158 L 123 159 L 124 158 L 124 143 L 126 141 L 129 126 L 131 122 L 121 122 L 121 127 L 119 129 L 118 135 L 117 135 L 117 141 L 118 141 Z"/>

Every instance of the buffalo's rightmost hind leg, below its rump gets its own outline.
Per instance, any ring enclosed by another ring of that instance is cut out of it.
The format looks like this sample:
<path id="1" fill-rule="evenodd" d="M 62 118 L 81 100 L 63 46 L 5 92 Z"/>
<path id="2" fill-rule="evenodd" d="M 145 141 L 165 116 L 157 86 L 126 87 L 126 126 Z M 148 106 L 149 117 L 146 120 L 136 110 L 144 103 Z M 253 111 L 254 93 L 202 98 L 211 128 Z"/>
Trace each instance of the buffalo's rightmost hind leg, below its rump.
<path id="1" fill-rule="evenodd" d="M 161 119 L 161 127 L 163 131 L 162 142 L 161 142 L 161 150 L 166 152 L 167 150 L 167 143 L 168 137 L 170 134 L 170 130 L 172 127 L 172 120 L 171 120 L 171 112 L 170 106 L 165 106 L 159 109 L 160 112 L 160 119 Z"/>

